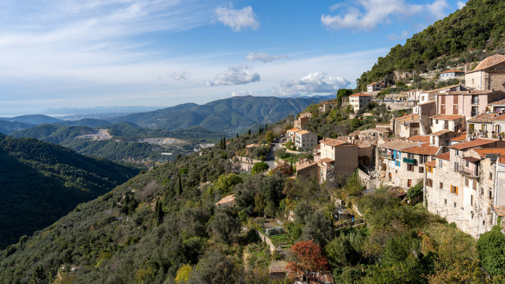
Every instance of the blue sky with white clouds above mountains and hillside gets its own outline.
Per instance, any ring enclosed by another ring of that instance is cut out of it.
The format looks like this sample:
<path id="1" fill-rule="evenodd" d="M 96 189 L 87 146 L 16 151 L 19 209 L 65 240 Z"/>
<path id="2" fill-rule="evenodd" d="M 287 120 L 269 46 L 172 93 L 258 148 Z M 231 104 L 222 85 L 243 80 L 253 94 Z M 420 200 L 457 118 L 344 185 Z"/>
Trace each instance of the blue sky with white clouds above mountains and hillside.
<path id="1" fill-rule="evenodd" d="M 328 94 L 458 0 L 4 0 L 0 116 Z"/>

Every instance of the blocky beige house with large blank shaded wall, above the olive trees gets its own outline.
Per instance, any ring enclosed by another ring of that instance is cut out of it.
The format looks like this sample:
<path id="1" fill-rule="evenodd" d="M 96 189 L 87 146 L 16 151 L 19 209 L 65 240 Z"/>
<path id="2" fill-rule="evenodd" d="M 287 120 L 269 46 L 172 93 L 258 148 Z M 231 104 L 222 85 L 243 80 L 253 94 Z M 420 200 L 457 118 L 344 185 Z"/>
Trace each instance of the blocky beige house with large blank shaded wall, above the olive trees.
<path id="1" fill-rule="evenodd" d="M 344 141 L 323 138 L 320 143 L 321 180 L 332 178 L 335 174 L 349 176 L 358 167 L 358 145 Z M 338 162 L 335 163 L 335 160 Z"/>

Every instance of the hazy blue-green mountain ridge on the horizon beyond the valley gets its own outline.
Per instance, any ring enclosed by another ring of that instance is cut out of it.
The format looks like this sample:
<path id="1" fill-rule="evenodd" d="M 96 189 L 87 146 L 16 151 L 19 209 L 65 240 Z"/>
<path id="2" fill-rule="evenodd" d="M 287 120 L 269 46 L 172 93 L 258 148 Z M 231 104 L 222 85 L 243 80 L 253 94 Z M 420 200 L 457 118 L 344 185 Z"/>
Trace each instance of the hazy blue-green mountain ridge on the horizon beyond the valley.
<path id="1" fill-rule="evenodd" d="M 299 113 L 310 104 L 334 98 L 331 95 L 308 98 L 233 97 L 205 105 L 184 104 L 130 114 L 111 119 L 111 122 L 128 121 L 143 127 L 168 130 L 198 125 L 216 132 L 240 132 L 258 123 L 275 123 L 290 114 Z"/>

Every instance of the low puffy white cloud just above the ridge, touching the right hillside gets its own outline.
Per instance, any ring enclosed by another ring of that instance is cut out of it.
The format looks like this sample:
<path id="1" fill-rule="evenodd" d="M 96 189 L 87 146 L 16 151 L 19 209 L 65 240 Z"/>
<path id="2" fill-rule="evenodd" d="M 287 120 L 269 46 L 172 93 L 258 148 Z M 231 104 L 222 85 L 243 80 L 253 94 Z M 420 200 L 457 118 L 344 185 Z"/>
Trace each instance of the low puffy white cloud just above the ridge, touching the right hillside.
<path id="1" fill-rule="evenodd" d="M 272 93 L 279 96 L 295 96 L 300 92 L 305 94 L 333 92 L 349 84 L 350 81 L 342 77 L 331 77 L 325 72 L 312 72 L 301 79 L 282 80 L 279 87 L 272 89 Z"/>

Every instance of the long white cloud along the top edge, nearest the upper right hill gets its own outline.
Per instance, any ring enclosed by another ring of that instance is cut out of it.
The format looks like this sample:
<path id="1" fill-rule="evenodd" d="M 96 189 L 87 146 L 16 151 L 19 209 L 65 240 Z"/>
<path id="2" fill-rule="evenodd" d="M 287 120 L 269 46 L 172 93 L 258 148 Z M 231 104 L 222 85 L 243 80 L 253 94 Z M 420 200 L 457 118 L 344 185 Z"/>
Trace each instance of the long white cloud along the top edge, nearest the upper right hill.
<path id="1" fill-rule="evenodd" d="M 450 8 L 446 0 L 422 5 L 408 4 L 406 0 L 357 0 L 355 3 L 355 6 L 345 10 L 340 9 L 343 6 L 337 7 L 337 10 L 341 10 L 339 15 L 322 15 L 322 24 L 335 30 L 371 31 L 400 17 L 409 19 L 416 16 L 417 21 L 420 17 L 438 20 L 446 16 L 446 10 Z"/>

